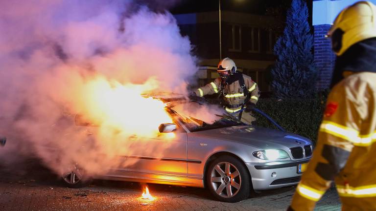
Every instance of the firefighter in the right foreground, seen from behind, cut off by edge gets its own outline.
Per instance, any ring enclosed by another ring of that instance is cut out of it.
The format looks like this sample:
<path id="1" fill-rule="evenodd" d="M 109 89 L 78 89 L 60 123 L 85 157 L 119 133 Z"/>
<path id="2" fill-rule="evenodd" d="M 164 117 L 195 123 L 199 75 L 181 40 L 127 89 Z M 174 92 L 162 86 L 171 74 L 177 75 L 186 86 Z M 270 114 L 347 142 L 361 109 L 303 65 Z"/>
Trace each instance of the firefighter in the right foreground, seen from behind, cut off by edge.
<path id="1" fill-rule="evenodd" d="M 317 146 L 288 210 L 312 211 L 334 180 L 342 210 L 376 210 L 376 8 L 359 1 L 327 36 L 337 55 Z"/>

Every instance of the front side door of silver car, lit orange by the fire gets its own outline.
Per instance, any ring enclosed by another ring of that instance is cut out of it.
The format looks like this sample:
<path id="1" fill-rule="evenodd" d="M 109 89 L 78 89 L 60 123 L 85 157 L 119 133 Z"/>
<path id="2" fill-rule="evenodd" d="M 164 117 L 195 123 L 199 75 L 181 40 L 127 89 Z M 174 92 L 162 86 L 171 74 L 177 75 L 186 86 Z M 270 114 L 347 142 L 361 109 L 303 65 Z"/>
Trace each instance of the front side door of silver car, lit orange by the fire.
<path id="1" fill-rule="evenodd" d="M 127 172 L 187 176 L 187 133 L 177 129 L 157 138 L 134 139 L 126 155 Z"/>

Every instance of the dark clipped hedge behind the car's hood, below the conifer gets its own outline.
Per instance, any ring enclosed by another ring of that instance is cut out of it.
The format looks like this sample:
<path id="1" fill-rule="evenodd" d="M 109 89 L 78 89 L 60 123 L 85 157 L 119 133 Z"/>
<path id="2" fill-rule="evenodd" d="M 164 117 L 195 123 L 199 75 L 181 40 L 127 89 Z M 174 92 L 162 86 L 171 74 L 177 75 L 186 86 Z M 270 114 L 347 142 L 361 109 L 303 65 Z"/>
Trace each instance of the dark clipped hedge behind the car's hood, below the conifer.
<path id="1" fill-rule="evenodd" d="M 326 97 L 316 99 L 288 99 L 277 100 L 271 98 L 259 99 L 257 108 L 268 114 L 287 132 L 307 137 L 316 143 L 317 132 L 320 127 Z M 266 118 L 257 116 L 256 125 L 276 128 Z"/>

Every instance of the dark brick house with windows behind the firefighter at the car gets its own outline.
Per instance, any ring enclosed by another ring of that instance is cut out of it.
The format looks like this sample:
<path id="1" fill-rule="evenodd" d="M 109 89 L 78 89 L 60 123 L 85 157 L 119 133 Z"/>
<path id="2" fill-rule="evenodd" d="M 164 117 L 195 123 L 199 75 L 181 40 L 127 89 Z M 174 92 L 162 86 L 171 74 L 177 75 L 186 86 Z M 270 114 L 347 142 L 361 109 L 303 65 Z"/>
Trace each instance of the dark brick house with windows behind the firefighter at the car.
<path id="1" fill-rule="evenodd" d="M 222 58 L 232 58 L 239 71 L 252 77 L 263 92 L 270 90 L 270 68 L 275 63 L 273 47 L 277 39 L 269 23 L 274 17 L 222 11 Z M 200 59 L 199 85 L 218 77 L 219 13 L 200 12 L 174 15 L 181 33 L 188 35 Z"/>

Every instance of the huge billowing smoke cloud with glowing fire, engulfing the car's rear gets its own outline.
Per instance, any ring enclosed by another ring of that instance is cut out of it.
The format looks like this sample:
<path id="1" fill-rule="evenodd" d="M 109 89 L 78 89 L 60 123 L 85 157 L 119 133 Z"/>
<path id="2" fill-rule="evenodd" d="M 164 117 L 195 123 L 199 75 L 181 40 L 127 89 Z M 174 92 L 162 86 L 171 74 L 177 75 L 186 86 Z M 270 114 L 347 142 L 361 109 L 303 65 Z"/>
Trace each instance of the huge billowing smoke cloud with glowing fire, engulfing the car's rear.
<path id="1" fill-rule="evenodd" d="M 135 147 L 171 121 L 162 102 L 140 96 L 186 93 L 197 69 L 171 14 L 133 0 L 0 0 L 0 8 L 3 162 L 37 155 L 59 174 L 74 163 L 95 174 L 120 165 L 119 154 L 163 153 Z M 74 126 L 77 113 L 95 127 Z"/>

